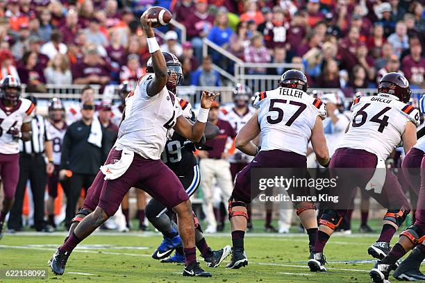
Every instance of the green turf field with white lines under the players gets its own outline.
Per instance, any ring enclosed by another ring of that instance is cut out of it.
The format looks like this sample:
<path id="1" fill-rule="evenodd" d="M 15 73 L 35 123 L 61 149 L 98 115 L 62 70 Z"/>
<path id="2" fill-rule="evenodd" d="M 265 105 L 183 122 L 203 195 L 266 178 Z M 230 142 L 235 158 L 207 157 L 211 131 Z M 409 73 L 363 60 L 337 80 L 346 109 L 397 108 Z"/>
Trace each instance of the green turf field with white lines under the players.
<path id="1" fill-rule="evenodd" d="M 6 279 L 6 270 L 47 269 L 47 261 L 64 239 L 65 233 L 6 234 L 0 241 L 0 282 L 43 282 L 35 279 Z M 160 243 L 154 232 L 126 234 L 101 232 L 85 239 L 69 258 L 65 274 L 48 271 L 49 282 L 369 282 L 373 267 L 367 247 L 377 234 L 332 237 L 326 246 L 327 273 L 310 273 L 306 261 L 308 241 L 303 234 L 248 234 L 245 248 L 249 266 L 240 270 L 203 268 L 213 277 L 183 277 L 182 265 L 161 264 L 151 258 Z M 397 241 L 397 237 L 394 237 Z M 207 237 L 214 249 L 231 244 L 228 233 Z M 393 242 L 394 242 L 393 241 Z"/>

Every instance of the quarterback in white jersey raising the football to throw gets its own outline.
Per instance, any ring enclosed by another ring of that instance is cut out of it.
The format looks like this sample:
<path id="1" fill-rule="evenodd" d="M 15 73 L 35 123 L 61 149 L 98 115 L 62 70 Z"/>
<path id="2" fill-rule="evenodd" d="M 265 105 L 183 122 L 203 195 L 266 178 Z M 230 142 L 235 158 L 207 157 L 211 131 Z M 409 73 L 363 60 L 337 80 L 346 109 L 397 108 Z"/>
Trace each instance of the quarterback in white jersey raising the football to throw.
<path id="1" fill-rule="evenodd" d="M 178 77 L 183 75 L 181 67 L 176 66 L 178 59 L 160 51 L 148 14 L 142 15 L 140 22 L 147 35 L 153 74 L 142 76 L 126 98 L 117 142 L 88 190 L 83 209 L 74 218 L 79 222 L 74 232 L 49 263 L 56 275 L 64 273 L 67 259 L 78 243 L 117 212 L 128 189 L 138 187 L 176 212 L 185 255 L 183 276 L 211 276 L 196 259 L 194 219 L 188 193 L 174 172 L 161 162 L 160 155 L 173 129 L 191 141 L 201 140 L 206 115 L 218 94 L 203 92 L 201 109 L 192 125 L 182 115 L 174 94 L 167 89 L 176 87 Z M 83 220 L 81 216 L 85 216 Z"/>

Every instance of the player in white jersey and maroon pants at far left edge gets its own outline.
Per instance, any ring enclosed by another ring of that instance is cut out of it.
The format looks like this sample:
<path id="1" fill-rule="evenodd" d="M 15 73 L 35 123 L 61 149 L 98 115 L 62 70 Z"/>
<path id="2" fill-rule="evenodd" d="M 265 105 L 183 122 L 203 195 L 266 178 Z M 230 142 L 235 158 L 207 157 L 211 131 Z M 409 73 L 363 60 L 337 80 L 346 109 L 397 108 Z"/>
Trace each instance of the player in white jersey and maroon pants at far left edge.
<path id="1" fill-rule="evenodd" d="M 15 197 L 19 178 L 19 139 L 31 139 L 31 119 L 35 105 L 21 98 L 21 82 L 13 76 L 0 81 L 0 176 L 3 182 L 3 208 L 0 211 L 0 239 L 3 223 Z"/>

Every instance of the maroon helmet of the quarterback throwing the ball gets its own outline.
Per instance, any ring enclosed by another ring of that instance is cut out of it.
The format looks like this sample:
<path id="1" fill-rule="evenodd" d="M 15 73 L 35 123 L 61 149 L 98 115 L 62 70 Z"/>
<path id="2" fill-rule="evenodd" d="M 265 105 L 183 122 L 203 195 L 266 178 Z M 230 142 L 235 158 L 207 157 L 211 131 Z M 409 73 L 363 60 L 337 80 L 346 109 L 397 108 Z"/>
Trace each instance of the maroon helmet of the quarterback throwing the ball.
<path id="1" fill-rule="evenodd" d="M 171 91 L 173 94 L 176 94 L 176 87 L 177 85 L 181 85 L 183 83 L 183 79 L 185 78 L 183 76 L 183 69 L 181 68 L 181 62 L 178 61 L 178 58 L 176 55 L 169 53 L 169 52 L 163 52 L 165 62 L 167 63 L 167 89 Z M 146 63 L 146 71 L 148 73 L 153 73 L 153 66 L 152 66 L 152 58 L 149 58 L 148 62 Z M 176 75 L 176 78 L 173 79 L 173 74 Z"/>

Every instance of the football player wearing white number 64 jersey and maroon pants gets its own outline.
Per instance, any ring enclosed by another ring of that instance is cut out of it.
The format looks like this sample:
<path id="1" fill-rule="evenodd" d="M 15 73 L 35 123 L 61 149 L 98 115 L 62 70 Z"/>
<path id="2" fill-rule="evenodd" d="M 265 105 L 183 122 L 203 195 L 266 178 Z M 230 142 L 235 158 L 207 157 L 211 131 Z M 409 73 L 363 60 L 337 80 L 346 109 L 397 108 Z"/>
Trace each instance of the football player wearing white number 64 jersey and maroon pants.
<path id="1" fill-rule="evenodd" d="M 367 250 L 377 259 L 383 259 L 390 252 L 390 241 L 410 212 L 397 177 L 385 168 L 385 160 L 401 141 L 406 153 L 416 143 L 419 111 L 406 104 L 410 94 L 409 83 L 401 74 L 383 76 L 377 96 L 363 96 L 353 101 L 350 123 L 332 157 L 331 174 L 341 168 L 357 169 L 340 175 L 336 189 L 343 192 L 344 199 L 351 201 L 353 189 L 360 187 L 387 208 L 381 235 Z M 376 173 L 385 173 L 385 182 L 382 176 L 375 178 Z M 314 257 L 308 261 L 310 271 L 326 271 L 324 246 L 346 212 L 344 207 L 324 211 L 313 248 Z"/>

